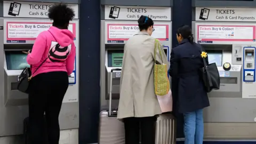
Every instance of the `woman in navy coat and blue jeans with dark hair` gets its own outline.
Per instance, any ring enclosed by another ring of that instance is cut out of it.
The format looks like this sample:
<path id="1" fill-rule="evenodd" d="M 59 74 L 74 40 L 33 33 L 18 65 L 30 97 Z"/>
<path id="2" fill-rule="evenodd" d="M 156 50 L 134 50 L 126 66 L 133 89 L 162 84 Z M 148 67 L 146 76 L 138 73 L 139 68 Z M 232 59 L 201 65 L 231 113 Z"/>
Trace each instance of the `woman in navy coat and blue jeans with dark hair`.
<path id="1" fill-rule="evenodd" d="M 179 44 L 172 49 L 169 70 L 175 81 L 172 87 L 175 87 L 172 89 L 174 109 L 184 116 L 185 144 L 202 144 L 203 108 L 210 106 L 210 103 L 199 71 L 204 66 L 201 48 L 193 42 L 189 26 L 177 30 L 177 40 Z"/>

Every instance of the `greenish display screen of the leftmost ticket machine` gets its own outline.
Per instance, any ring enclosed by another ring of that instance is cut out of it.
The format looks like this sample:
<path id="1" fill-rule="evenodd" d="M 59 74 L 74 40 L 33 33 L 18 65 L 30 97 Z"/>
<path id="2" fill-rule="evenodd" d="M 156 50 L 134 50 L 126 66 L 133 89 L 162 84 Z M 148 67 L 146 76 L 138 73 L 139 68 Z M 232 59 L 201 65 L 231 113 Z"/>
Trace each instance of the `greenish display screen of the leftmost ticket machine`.
<path id="1" fill-rule="evenodd" d="M 22 51 L 5 51 L 8 70 L 18 70 L 30 67 L 27 63 L 27 54 Z"/>

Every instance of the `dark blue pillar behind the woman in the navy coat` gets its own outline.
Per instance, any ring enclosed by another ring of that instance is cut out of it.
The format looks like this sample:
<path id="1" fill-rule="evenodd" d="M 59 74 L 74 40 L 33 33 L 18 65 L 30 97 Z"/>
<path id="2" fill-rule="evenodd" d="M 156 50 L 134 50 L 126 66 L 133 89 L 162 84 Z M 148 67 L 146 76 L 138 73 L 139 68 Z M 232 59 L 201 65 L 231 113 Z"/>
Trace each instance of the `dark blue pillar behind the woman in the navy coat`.
<path id="1" fill-rule="evenodd" d="M 178 44 L 176 39 L 176 31 L 181 25 L 189 25 L 192 22 L 192 5 L 191 0 L 173 0 L 172 8 L 172 46 Z M 183 134 L 183 115 L 177 113 L 177 138 L 184 138 Z"/>

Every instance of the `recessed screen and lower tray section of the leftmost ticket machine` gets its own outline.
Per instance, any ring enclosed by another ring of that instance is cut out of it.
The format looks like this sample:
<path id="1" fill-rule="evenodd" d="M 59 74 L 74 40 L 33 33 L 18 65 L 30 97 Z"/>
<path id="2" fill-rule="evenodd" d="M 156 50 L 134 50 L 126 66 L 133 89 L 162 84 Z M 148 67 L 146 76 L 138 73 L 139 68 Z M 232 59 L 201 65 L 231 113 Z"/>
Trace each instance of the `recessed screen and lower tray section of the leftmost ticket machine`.
<path id="1" fill-rule="evenodd" d="M 22 106 L 28 104 L 28 95 L 18 91 L 18 76 L 30 67 L 27 63 L 28 51 L 33 45 L 5 45 L 4 47 L 4 102 L 5 106 Z"/>

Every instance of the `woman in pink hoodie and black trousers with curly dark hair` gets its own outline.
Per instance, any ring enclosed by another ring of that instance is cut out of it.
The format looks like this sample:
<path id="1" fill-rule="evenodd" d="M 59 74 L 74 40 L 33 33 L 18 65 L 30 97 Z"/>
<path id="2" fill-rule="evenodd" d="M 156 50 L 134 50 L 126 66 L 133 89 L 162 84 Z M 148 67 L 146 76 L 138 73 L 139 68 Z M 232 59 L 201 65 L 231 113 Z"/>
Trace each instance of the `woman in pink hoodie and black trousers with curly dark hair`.
<path id="1" fill-rule="evenodd" d="M 27 57 L 33 74 L 29 85 L 30 144 L 43 144 L 44 113 L 49 144 L 59 143 L 59 114 L 75 63 L 74 35 L 68 30 L 69 21 L 75 17 L 73 9 L 53 5 L 48 16 L 52 27 L 38 35 Z"/>

